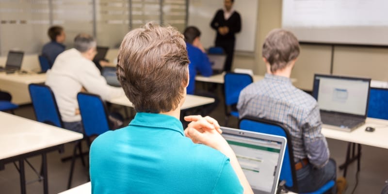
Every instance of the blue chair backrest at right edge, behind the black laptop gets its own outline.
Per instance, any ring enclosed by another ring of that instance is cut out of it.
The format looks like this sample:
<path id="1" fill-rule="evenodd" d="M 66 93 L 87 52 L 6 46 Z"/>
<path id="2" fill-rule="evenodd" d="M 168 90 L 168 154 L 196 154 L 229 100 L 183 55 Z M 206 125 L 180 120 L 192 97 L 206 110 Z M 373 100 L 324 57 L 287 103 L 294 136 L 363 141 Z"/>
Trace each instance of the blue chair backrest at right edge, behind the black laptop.
<path id="1" fill-rule="evenodd" d="M 388 119 L 388 89 L 371 88 L 369 92 L 368 117 Z"/>

